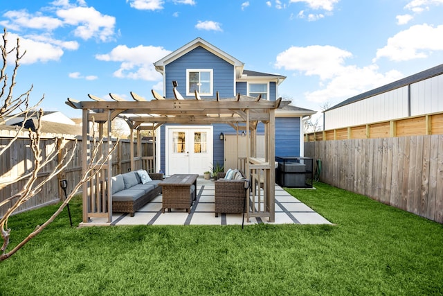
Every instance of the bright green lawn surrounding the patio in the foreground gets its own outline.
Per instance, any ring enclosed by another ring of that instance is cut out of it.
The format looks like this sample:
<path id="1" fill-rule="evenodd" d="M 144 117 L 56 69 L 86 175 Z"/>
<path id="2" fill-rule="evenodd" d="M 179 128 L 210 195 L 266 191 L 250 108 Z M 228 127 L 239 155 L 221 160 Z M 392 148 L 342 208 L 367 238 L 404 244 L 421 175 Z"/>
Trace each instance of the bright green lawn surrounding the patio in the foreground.
<path id="1" fill-rule="evenodd" d="M 335 225 L 69 227 L 0 263 L 1 295 L 443 295 L 443 227 L 326 184 L 289 189 Z M 10 219 L 11 244 L 51 215 Z M 71 203 L 75 223 L 81 201 Z"/>

